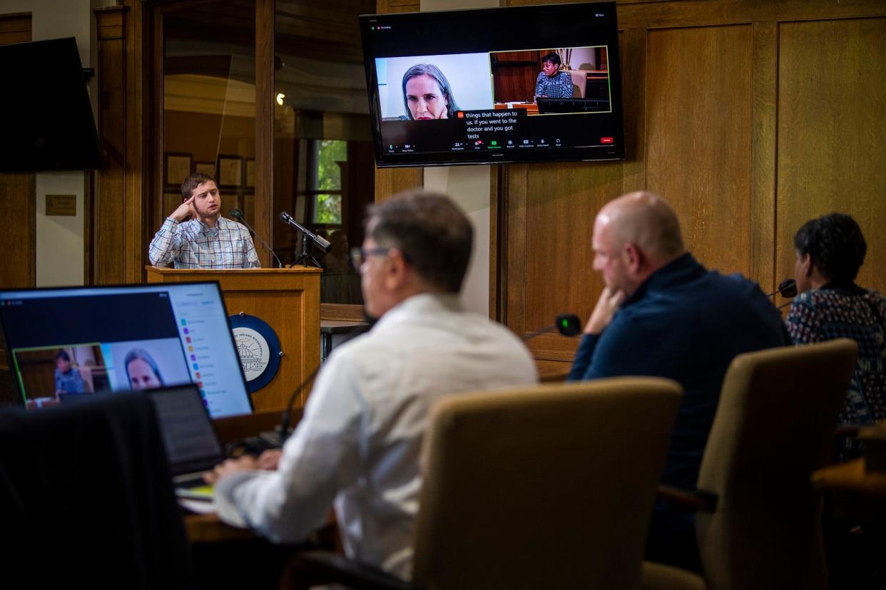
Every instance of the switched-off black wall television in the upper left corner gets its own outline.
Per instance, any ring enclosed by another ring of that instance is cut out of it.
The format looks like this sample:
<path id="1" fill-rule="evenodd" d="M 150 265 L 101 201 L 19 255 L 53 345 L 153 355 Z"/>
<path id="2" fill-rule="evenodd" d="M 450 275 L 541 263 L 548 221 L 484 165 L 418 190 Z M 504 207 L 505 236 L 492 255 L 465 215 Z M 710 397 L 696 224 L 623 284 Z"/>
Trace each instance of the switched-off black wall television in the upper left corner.
<path id="1" fill-rule="evenodd" d="M 74 37 L 0 46 L 0 64 L 0 172 L 101 168 L 96 122 Z"/>

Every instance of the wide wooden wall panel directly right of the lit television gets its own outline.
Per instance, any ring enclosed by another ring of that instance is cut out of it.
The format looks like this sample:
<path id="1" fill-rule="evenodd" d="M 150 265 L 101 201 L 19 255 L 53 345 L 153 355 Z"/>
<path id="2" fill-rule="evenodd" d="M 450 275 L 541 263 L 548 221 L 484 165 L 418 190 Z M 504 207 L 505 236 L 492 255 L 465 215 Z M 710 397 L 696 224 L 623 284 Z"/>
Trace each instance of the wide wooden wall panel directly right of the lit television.
<path id="1" fill-rule="evenodd" d="M 647 186 L 723 272 L 750 267 L 751 48 L 750 25 L 649 32 Z"/>

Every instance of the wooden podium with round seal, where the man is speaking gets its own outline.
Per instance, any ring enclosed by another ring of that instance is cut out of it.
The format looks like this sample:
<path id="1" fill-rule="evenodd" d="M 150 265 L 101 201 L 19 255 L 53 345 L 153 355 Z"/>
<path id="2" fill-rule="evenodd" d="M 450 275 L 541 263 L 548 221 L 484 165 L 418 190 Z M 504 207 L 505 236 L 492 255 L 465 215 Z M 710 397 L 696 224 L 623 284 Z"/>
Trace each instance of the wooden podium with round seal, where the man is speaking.
<path id="1" fill-rule="evenodd" d="M 268 323 L 280 339 L 280 368 L 253 394 L 256 411 L 282 410 L 299 384 L 320 366 L 320 274 L 317 268 L 197 271 L 145 266 L 149 283 L 217 280 L 229 315 Z M 302 392 L 296 407 L 304 405 Z"/>

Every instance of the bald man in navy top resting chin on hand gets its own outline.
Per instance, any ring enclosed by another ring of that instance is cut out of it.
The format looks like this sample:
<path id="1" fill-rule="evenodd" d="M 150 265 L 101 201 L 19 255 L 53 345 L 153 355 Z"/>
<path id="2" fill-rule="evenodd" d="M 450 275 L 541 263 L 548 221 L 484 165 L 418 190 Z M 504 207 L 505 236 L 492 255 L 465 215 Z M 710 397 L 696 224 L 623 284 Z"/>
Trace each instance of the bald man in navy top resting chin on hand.
<path id="1" fill-rule="evenodd" d="M 683 246 L 680 222 L 647 192 L 603 206 L 594 223 L 594 270 L 606 287 L 585 326 L 569 379 L 650 375 L 684 396 L 664 484 L 694 489 L 720 386 L 734 356 L 789 344 L 766 295 L 739 274 L 710 272 Z M 656 506 L 647 558 L 698 569 L 692 515 Z"/>

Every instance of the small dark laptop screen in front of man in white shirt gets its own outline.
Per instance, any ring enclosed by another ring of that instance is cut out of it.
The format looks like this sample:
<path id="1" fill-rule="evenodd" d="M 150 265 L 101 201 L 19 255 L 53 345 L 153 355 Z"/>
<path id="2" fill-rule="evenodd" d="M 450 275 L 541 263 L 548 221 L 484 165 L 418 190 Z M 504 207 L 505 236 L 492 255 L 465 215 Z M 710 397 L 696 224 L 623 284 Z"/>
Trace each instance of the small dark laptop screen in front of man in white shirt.
<path id="1" fill-rule="evenodd" d="M 224 451 L 197 386 L 164 387 L 150 395 L 174 476 L 207 471 L 221 463 Z"/>

